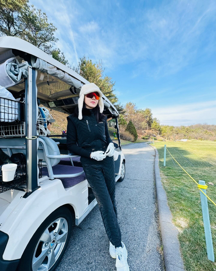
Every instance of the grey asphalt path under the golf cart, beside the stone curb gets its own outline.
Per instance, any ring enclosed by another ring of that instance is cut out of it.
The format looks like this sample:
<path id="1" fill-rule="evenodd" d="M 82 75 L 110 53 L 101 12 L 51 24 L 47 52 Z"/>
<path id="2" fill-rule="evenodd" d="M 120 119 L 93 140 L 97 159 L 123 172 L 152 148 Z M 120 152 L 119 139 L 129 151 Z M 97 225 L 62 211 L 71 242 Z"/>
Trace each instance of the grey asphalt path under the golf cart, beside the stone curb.
<path id="1" fill-rule="evenodd" d="M 122 241 L 128 251 L 130 271 L 164 270 L 160 255 L 156 211 L 154 149 L 147 143 L 123 146 L 126 175 L 116 183 L 116 203 Z M 98 205 L 77 227 L 57 271 L 114 271 Z"/>

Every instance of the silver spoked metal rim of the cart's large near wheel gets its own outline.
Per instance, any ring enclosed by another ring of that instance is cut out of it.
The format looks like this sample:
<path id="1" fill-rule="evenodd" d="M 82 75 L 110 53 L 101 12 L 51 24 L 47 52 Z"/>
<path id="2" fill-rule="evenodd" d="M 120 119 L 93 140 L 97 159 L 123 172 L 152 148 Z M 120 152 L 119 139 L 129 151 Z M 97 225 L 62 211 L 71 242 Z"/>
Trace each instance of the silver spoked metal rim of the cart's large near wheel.
<path id="1" fill-rule="evenodd" d="M 48 271 L 60 256 L 68 235 L 64 218 L 53 221 L 41 235 L 32 259 L 32 271 Z"/>

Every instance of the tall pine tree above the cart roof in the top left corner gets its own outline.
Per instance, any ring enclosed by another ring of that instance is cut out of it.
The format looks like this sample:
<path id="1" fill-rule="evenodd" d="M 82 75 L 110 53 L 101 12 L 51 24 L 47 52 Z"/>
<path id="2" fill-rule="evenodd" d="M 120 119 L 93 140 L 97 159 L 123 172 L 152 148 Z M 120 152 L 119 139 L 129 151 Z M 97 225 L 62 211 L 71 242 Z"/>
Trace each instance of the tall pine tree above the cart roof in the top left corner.
<path id="1" fill-rule="evenodd" d="M 0 36 L 19 37 L 52 55 L 56 29 L 28 0 L 0 0 Z"/>

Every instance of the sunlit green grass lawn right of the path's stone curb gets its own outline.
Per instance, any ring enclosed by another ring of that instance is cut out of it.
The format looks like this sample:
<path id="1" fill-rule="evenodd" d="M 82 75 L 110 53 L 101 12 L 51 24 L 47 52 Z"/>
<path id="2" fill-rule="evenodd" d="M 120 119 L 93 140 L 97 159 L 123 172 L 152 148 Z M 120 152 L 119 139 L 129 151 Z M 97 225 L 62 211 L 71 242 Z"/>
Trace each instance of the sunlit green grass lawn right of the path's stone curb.
<path id="1" fill-rule="evenodd" d="M 169 152 L 198 182 L 208 185 L 207 195 L 216 203 L 216 142 L 155 142 L 159 153 L 161 179 L 167 193 L 173 223 L 179 229 L 179 241 L 185 270 L 216 270 L 207 258 L 206 241 L 197 185 L 176 164 L 167 152 L 164 164 L 164 143 Z M 214 186 L 208 184 L 212 182 Z M 208 200 L 214 255 L 216 258 L 216 207 Z"/>

